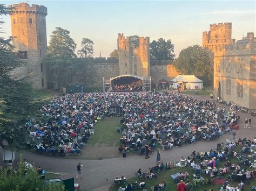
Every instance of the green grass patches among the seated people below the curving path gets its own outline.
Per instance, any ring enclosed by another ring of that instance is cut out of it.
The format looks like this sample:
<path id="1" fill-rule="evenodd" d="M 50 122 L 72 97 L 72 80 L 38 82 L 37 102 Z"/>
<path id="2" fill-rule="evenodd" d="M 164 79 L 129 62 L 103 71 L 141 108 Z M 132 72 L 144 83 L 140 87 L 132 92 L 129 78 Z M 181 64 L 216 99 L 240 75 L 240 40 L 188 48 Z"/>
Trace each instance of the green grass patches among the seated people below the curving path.
<path id="1" fill-rule="evenodd" d="M 236 164 L 237 162 L 237 159 L 236 158 L 231 158 L 231 162 L 232 164 Z M 224 164 L 226 163 L 226 161 L 221 161 L 218 165 L 217 168 L 220 168 L 220 167 L 224 167 Z M 158 183 L 161 183 L 163 180 L 167 182 L 167 185 L 168 185 L 168 188 L 167 190 L 177 190 L 177 184 L 173 182 L 173 179 L 171 178 L 171 175 L 172 174 L 175 174 L 175 173 L 178 173 L 178 172 L 188 172 L 190 173 L 190 182 L 193 183 L 193 172 L 191 171 L 190 168 L 188 167 L 175 167 L 175 168 L 171 168 L 171 169 L 165 169 L 165 172 L 163 173 L 160 173 L 157 175 L 157 178 L 153 181 L 146 181 L 146 188 L 147 190 L 151 190 L 151 187 L 153 187 L 154 185 L 158 184 Z M 228 172 L 227 175 L 224 176 L 224 179 L 226 180 L 228 178 L 228 175 L 231 173 L 232 171 Z M 203 177 L 205 178 L 205 182 L 207 182 L 207 180 L 209 179 L 208 176 L 204 176 Z M 131 178 L 131 179 L 128 179 L 127 182 L 134 182 L 134 181 L 137 181 L 135 178 Z M 138 183 L 140 181 L 137 181 Z M 230 182 L 231 186 L 237 186 L 238 185 L 238 182 L 235 182 L 235 181 L 232 181 Z M 250 182 L 250 185 L 245 185 L 245 189 L 243 190 L 251 190 L 251 187 L 252 186 L 255 186 L 256 185 L 256 179 L 253 179 L 251 180 Z M 111 191 L 116 191 L 118 189 L 118 186 L 115 186 L 113 185 L 110 190 Z M 203 191 L 203 190 L 209 190 L 209 189 L 213 189 L 214 191 L 215 190 L 219 190 L 219 185 L 215 185 L 214 183 L 205 183 L 205 185 L 203 186 L 200 186 L 200 187 L 194 187 L 193 186 L 193 191 Z"/>

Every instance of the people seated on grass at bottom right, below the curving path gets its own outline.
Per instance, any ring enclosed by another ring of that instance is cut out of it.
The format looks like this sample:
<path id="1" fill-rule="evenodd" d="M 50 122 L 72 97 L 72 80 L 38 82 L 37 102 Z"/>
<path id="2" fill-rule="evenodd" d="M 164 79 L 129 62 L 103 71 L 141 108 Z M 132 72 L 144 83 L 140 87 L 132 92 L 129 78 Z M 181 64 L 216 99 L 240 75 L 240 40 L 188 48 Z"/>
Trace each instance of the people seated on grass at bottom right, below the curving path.
<path id="1" fill-rule="evenodd" d="M 234 150 L 235 147 L 236 149 Z M 200 185 L 205 183 L 218 184 L 221 191 L 241 191 L 256 175 L 255 164 L 254 168 L 252 164 L 253 159 L 256 158 L 255 148 L 256 137 L 253 140 L 247 140 L 246 138 L 238 139 L 237 142 L 227 140 L 227 144 L 218 144 L 217 149 L 211 149 L 208 152 L 193 151 L 186 159 L 181 157 L 180 162 L 176 166 L 184 164 L 184 167 L 190 167 L 191 175 L 188 172 L 181 171 L 171 175 L 173 182 L 177 183 L 177 191 L 191 190 L 193 187 L 200 187 Z M 252 151 L 254 151 L 254 154 L 251 155 Z M 232 163 L 232 161 L 237 162 Z M 224 163 L 224 166 L 219 167 L 219 162 Z M 143 185 L 140 188 L 147 190 L 145 182 L 156 179 L 157 174 L 164 172 L 167 166 L 167 164 L 164 165 L 161 162 L 161 165 L 157 164 L 149 168 L 149 171 L 146 173 L 143 173 L 142 169 L 139 168 L 135 176 L 140 182 L 136 181 L 128 184 L 131 186 L 133 184 Z M 154 176 L 150 178 L 150 174 L 154 174 Z M 193 181 L 191 182 L 190 180 Z M 126 188 L 120 187 L 119 190 L 126 190 Z M 165 188 L 167 188 L 167 183 L 163 181 L 154 185 L 151 190 L 166 190 Z"/>

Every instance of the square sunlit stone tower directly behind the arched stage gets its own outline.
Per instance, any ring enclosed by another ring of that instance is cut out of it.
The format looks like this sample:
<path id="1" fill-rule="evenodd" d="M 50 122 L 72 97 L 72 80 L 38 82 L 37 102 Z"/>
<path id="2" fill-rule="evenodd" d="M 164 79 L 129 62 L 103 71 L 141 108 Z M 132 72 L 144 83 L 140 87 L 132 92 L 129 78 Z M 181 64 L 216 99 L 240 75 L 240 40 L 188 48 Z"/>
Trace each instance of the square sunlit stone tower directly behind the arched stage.
<path id="1" fill-rule="evenodd" d="M 118 34 L 119 75 L 133 74 L 144 79 L 150 76 L 149 37 L 124 37 Z"/>

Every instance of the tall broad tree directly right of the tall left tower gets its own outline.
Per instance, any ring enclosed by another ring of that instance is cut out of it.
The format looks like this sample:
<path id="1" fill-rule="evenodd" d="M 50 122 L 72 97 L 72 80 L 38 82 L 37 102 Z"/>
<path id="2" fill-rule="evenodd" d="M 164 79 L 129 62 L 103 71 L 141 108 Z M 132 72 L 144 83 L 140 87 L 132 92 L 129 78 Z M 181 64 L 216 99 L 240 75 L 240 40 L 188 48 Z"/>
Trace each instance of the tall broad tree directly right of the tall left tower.
<path id="1" fill-rule="evenodd" d="M 49 66 L 49 81 L 58 89 L 72 82 L 75 70 L 73 58 L 77 57 L 75 54 L 77 45 L 69 33 L 68 30 L 60 27 L 52 31 L 49 51 L 43 61 Z"/>

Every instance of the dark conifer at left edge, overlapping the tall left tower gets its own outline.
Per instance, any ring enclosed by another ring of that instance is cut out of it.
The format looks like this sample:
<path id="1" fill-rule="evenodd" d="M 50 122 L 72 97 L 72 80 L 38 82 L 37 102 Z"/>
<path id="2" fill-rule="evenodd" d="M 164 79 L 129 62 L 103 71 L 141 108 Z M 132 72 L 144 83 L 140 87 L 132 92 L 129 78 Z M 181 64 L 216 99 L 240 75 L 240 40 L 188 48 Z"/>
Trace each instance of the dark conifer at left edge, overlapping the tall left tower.
<path id="1" fill-rule="evenodd" d="M 9 13 L 10 9 L 0 4 L 0 16 Z M 11 40 L 11 37 L 0 37 L 0 146 L 4 146 L 3 141 L 6 141 L 8 147 L 20 148 L 29 135 L 24 124 L 39 116 L 42 102 L 36 99 L 35 91 L 25 79 L 11 78 L 11 70 L 20 63 L 20 60 L 12 58 L 14 46 Z"/>

